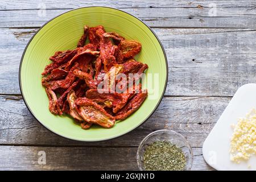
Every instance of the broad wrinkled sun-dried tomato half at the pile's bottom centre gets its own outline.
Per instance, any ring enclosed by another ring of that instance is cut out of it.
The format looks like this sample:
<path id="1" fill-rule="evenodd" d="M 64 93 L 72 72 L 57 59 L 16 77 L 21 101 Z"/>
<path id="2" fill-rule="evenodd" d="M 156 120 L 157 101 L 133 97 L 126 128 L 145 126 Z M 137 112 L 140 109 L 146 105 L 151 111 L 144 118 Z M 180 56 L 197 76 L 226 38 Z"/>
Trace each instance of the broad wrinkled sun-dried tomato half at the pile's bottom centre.
<path id="1" fill-rule="evenodd" d="M 77 98 L 77 111 L 88 123 L 95 123 L 105 128 L 114 126 L 115 118 L 108 114 L 100 105 L 86 97 Z"/>

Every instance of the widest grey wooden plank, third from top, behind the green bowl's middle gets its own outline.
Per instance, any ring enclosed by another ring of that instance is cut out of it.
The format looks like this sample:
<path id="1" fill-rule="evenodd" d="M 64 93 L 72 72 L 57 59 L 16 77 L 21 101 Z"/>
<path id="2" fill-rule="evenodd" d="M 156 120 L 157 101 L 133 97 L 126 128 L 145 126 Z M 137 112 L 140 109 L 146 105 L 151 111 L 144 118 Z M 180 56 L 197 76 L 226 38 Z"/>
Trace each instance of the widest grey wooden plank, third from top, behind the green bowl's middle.
<path id="1" fill-rule="evenodd" d="M 24 47 L 37 29 L 0 28 L 0 93 L 19 94 Z M 166 96 L 233 96 L 256 81 L 255 29 L 154 28 L 167 53 Z"/>

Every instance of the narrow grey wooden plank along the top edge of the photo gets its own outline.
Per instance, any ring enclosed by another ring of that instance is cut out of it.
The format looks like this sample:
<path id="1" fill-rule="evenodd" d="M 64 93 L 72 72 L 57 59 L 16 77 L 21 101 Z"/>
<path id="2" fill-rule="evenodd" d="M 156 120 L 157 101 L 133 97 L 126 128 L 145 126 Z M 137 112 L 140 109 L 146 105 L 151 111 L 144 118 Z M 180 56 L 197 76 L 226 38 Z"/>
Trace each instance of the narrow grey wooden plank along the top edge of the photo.
<path id="1" fill-rule="evenodd" d="M 114 1 L 114 0 L 97 0 L 97 1 L 80 1 L 80 0 L 2 0 L 0 5 L 1 10 L 24 10 L 24 9 L 39 9 L 42 8 L 42 3 L 46 5 L 47 9 L 74 9 L 82 6 L 111 6 L 116 8 L 125 7 L 196 7 L 201 5 L 209 7 L 211 3 L 215 3 L 217 7 L 252 7 L 255 5 L 254 0 L 247 1 L 228 1 L 228 0 L 215 0 L 215 1 L 186 1 L 186 0 L 130 0 L 130 1 Z"/>

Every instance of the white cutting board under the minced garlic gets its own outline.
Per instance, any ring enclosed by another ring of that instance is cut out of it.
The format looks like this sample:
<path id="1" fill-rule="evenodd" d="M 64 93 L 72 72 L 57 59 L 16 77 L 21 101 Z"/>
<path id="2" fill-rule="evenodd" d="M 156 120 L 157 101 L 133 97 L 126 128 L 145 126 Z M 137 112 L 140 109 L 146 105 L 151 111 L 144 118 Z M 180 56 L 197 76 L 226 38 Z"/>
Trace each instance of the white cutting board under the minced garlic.
<path id="1" fill-rule="evenodd" d="M 216 125 L 205 139 L 203 155 L 205 161 L 217 170 L 256 170 L 256 156 L 240 164 L 230 160 L 230 138 L 233 134 L 232 123 L 245 117 L 251 109 L 256 109 L 256 84 L 241 86 L 218 119 Z M 250 168 L 248 165 L 250 164 Z"/>

